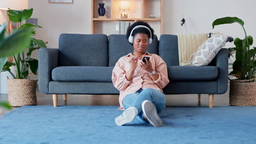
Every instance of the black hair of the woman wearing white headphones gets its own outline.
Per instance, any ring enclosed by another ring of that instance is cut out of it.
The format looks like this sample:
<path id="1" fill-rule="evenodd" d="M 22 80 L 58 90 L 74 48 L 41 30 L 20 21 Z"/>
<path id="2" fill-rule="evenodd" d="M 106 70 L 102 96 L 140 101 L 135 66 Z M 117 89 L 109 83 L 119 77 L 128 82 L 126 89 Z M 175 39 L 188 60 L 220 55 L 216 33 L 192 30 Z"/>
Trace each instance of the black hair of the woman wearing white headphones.
<path id="1" fill-rule="evenodd" d="M 150 27 L 147 22 L 137 21 L 137 22 L 133 23 L 130 27 L 127 28 L 127 31 L 126 31 L 126 38 L 127 39 L 129 39 L 132 29 L 135 28 L 138 25 L 148 27 L 150 29 L 151 33 L 152 33 L 152 39 L 154 38 L 154 29 L 152 27 Z M 140 27 L 140 28 L 134 29 L 133 32 L 132 32 L 132 36 L 134 37 L 134 35 L 137 34 L 137 33 L 147 34 L 148 38 L 150 38 L 150 32 L 148 31 L 147 28 Z"/>

